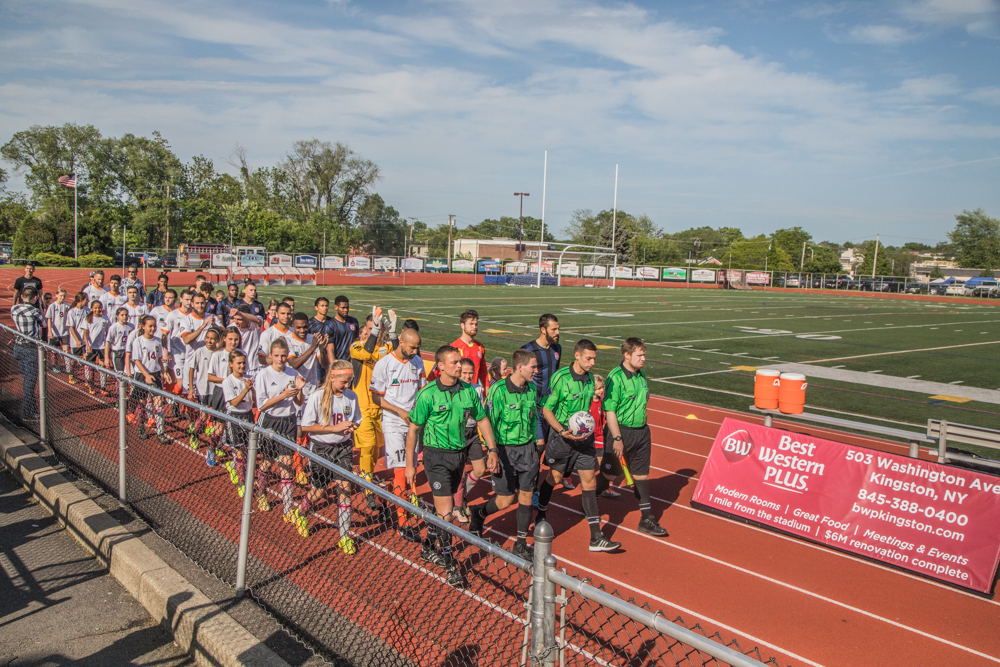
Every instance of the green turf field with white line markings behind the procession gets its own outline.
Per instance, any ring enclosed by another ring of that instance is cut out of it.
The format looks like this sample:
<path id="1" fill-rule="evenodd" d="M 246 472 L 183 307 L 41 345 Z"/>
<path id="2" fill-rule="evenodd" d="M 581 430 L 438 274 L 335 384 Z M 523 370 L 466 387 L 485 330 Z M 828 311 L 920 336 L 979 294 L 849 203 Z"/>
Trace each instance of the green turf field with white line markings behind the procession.
<path id="1" fill-rule="evenodd" d="M 1000 307 L 991 302 L 958 305 L 693 289 L 539 291 L 493 285 L 269 287 L 260 292 L 262 301 L 294 296 L 296 309 L 310 315 L 320 294 L 346 294 L 359 319 L 372 304 L 394 308 L 401 319 L 419 320 L 425 350 L 453 341 L 459 313 L 475 308 L 487 357 L 509 358 L 537 336 L 538 316 L 553 312 L 564 346 L 571 348 L 581 338 L 597 344 L 597 372 L 606 373 L 620 361 L 623 338 L 639 336 L 649 346 L 646 370 L 654 392 L 719 407 L 747 409 L 756 368 L 808 363 L 848 372 L 844 377 L 811 377 L 810 410 L 920 427 L 928 418 L 991 428 L 1000 424 L 1000 405 L 989 402 L 990 396 L 970 400 L 955 395 L 963 388 L 1000 388 Z M 888 379 L 871 379 L 874 375 Z M 877 381 L 900 386 L 874 386 Z M 938 384 L 914 385 L 922 381 Z"/>

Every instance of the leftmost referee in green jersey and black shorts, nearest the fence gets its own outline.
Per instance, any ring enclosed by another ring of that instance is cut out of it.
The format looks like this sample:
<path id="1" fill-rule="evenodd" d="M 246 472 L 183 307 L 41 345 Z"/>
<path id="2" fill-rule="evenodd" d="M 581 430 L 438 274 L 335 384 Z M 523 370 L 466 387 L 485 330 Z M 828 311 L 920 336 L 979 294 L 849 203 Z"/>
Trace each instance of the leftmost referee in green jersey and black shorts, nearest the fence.
<path id="1" fill-rule="evenodd" d="M 471 384 L 458 379 L 462 372 L 461 353 L 451 345 L 444 345 L 438 348 L 434 361 L 440 375 L 420 390 L 410 410 L 410 428 L 406 433 L 406 483 L 411 489 L 415 487 L 417 431 L 422 427 L 424 473 L 434 496 L 434 511 L 445 521 L 451 521 L 455 509 L 452 496 L 462 481 L 468 456 L 465 425 L 470 418 L 476 420 L 486 441 L 486 467 L 491 473 L 499 470 L 499 458 L 493 429 L 479 394 Z M 420 557 L 443 567 L 450 585 L 456 588 L 465 585 L 451 554 L 451 533 L 429 527 Z"/>

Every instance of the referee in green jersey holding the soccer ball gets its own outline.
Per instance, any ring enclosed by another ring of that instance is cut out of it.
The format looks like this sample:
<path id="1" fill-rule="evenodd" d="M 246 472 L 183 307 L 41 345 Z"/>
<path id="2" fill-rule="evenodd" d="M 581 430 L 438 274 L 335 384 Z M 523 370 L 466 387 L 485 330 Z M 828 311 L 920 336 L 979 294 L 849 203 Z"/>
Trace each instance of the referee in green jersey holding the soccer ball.
<path id="1" fill-rule="evenodd" d="M 590 550 L 615 551 L 621 547 L 601 532 L 601 515 L 597 508 L 597 450 L 594 434 L 573 435 L 566 424 L 577 412 L 588 412 L 594 399 L 594 376 L 590 369 L 597 360 L 597 347 L 587 339 L 573 348 L 573 363 L 557 371 L 549 385 L 549 395 L 542 404 L 542 416 L 549 423 L 549 436 L 545 442 L 545 463 L 549 475 L 538 489 L 538 516 L 535 523 L 545 520 L 552 491 L 560 480 L 574 470 L 580 476 L 583 514 L 590 525 Z"/>

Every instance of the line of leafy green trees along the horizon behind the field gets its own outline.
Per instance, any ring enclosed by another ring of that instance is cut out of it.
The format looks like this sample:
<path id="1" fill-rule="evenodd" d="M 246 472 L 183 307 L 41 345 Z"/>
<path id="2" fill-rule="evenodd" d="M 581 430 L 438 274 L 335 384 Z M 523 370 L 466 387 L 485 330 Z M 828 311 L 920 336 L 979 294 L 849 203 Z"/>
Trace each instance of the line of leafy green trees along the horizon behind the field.
<path id="1" fill-rule="evenodd" d="M 0 241 L 13 243 L 15 257 L 73 255 L 73 190 L 58 183 L 69 173 L 76 174 L 81 255 L 110 255 L 123 240 L 129 248 L 176 248 L 230 238 L 282 252 L 402 255 L 412 241 L 426 244 L 431 257 L 449 253 L 448 224 L 401 217 L 376 191 L 378 166 L 340 142 L 296 141 L 268 167 L 251 166 L 238 146 L 229 158 L 233 175 L 202 155 L 182 161 L 158 132 L 105 137 L 92 125 L 35 125 L 14 134 L 0 156 L 23 174 L 28 190 L 7 190 L 9 174 L 0 169 Z M 541 220 L 502 216 L 450 231 L 453 239 L 517 239 L 522 228 L 525 240 L 537 240 Z M 736 227 L 668 233 L 647 215 L 608 210 L 576 211 L 566 235 L 573 243 L 613 246 L 625 264 L 715 257 L 734 268 L 813 273 L 840 271 L 840 252 L 855 247 L 814 241 L 801 227 L 753 237 Z M 982 210 L 956 216 L 949 238 L 933 250 L 954 254 L 961 266 L 1000 268 L 1000 223 Z M 545 239 L 557 240 L 549 229 Z M 871 272 L 874 244 L 856 246 L 865 258 L 861 273 Z M 875 272 L 907 275 L 914 250 L 931 248 L 880 247 Z"/>

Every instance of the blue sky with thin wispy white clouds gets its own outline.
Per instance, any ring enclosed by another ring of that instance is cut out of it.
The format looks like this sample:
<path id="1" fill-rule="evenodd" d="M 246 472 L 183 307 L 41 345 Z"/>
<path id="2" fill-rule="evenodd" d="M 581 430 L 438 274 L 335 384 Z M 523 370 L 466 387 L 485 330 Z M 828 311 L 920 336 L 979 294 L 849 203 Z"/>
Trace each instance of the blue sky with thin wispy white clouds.
<path id="1" fill-rule="evenodd" d="M 617 163 L 666 231 L 933 242 L 1000 216 L 1000 1 L 4 0 L 0 141 L 64 122 L 227 170 L 342 141 L 430 224 L 540 216 L 548 149 L 557 231 Z"/>

